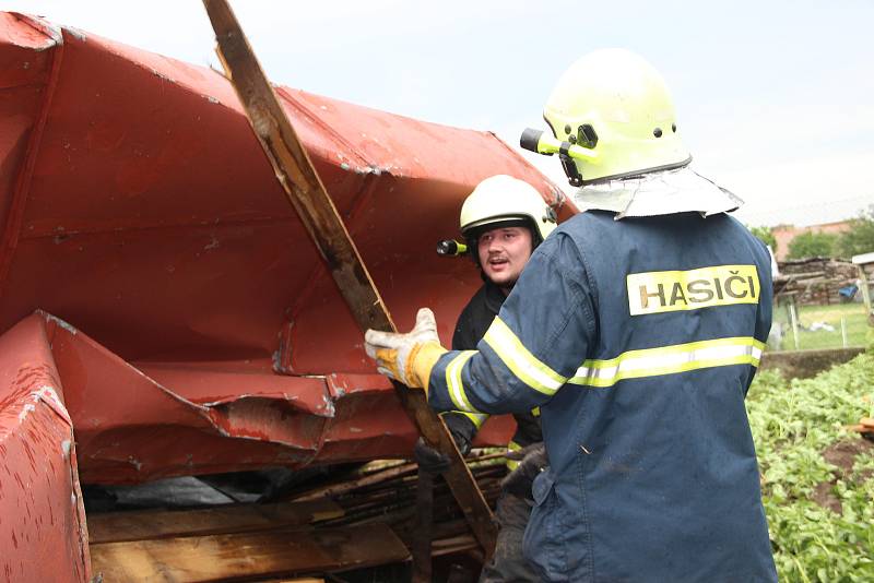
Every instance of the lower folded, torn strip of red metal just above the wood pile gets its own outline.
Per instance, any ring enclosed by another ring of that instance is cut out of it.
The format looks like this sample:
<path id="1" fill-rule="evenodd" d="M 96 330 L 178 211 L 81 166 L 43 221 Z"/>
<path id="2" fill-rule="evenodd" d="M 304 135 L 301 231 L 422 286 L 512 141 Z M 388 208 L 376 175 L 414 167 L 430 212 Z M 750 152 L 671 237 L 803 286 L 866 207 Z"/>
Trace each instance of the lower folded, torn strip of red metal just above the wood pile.
<path id="1" fill-rule="evenodd" d="M 287 377 L 253 361 L 133 365 L 45 312 L 2 337 L 15 338 L 23 360 L 52 362 L 87 484 L 408 457 L 417 437 L 380 374 Z M 496 419 L 480 441 L 506 443 L 511 429 Z"/>

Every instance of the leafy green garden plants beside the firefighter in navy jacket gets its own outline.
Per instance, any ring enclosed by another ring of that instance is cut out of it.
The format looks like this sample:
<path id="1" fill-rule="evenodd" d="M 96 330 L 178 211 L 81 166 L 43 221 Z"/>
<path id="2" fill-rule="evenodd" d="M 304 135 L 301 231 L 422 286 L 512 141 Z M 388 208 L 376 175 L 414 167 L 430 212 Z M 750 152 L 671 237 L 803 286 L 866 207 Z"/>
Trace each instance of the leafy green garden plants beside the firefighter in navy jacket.
<path id="1" fill-rule="evenodd" d="M 874 581 L 874 353 L 813 379 L 761 371 L 746 400 L 783 582 Z"/>

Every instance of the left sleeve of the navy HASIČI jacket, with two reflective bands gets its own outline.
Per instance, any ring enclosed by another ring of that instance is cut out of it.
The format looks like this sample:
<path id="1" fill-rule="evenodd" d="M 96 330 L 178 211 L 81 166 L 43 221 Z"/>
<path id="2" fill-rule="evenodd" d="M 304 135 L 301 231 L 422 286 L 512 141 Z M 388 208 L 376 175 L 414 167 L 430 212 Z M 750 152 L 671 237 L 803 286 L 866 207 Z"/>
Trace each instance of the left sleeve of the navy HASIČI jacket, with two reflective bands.
<path id="1" fill-rule="evenodd" d="M 437 411 L 521 413 L 543 405 L 586 360 L 597 291 L 584 254 L 556 233 L 529 260 L 476 350 L 452 350 L 430 373 Z"/>

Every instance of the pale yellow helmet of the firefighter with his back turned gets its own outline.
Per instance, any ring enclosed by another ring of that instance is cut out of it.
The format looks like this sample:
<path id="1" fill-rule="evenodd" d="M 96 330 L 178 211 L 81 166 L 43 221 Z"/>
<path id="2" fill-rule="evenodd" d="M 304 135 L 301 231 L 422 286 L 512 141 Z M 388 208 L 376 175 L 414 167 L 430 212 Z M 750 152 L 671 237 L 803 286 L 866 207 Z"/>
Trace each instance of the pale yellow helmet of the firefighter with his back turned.
<path id="1" fill-rule="evenodd" d="M 571 64 L 550 95 L 543 117 L 560 144 L 550 147 L 545 142 L 552 139 L 534 132 L 532 145 L 528 130 L 523 147 L 558 152 L 574 186 L 677 168 L 692 160 L 664 80 L 628 50 L 597 50 Z"/>

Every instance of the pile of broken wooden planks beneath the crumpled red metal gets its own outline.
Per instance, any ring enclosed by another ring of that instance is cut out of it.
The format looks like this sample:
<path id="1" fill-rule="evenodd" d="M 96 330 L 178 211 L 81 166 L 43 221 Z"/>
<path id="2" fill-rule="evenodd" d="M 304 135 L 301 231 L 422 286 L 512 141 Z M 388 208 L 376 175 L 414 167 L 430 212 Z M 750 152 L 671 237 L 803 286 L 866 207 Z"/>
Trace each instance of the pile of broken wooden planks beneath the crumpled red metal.
<path id="1" fill-rule="evenodd" d="M 494 508 L 504 454 L 474 454 L 468 462 Z M 87 519 L 93 571 L 103 581 L 406 580 L 416 485 L 416 464 L 382 461 L 331 474 L 271 503 L 94 513 Z M 479 567 L 481 547 L 442 479 L 435 481 L 433 511 L 433 557 L 445 560 L 445 570 L 447 559 L 457 558 Z"/>

